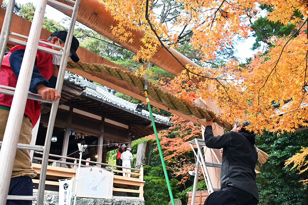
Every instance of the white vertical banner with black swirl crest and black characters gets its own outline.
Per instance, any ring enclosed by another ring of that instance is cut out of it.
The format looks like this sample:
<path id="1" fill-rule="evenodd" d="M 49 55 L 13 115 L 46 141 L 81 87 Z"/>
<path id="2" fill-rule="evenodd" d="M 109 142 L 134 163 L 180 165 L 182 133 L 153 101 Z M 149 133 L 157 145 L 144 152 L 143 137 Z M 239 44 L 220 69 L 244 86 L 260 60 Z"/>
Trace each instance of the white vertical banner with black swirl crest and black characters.
<path id="1" fill-rule="evenodd" d="M 71 205 L 73 182 L 72 179 L 59 180 L 59 205 Z"/>

